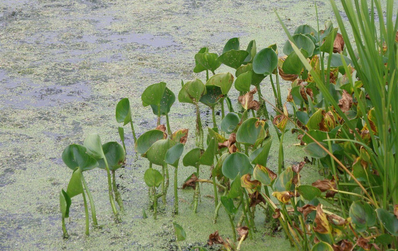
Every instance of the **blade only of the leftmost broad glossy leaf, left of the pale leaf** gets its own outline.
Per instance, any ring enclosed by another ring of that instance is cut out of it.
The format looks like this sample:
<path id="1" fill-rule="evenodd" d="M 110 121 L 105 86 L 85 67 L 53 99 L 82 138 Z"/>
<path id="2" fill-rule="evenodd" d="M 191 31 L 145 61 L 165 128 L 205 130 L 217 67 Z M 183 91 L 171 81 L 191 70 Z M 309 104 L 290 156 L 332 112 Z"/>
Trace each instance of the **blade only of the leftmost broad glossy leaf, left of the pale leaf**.
<path id="1" fill-rule="evenodd" d="M 78 144 L 71 144 L 65 148 L 62 161 L 72 170 L 80 167 L 81 171 L 87 171 L 98 166 L 98 162 L 86 153 L 86 148 Z"/>

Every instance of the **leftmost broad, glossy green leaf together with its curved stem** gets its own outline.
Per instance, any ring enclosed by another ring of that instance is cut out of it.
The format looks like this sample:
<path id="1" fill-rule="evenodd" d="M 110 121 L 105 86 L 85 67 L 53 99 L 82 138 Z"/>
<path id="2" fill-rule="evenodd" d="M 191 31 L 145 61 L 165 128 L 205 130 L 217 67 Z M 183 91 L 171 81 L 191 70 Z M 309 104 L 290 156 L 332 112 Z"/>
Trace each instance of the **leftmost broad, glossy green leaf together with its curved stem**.
<path id="1" fill-rule="evenodd" d="M 98 166 L 98 162 L 86 153 L 86 148 L 84 146 L 78 144 L 71 144 L 64 149 L 62 152 L 62 161 L 64 161 L 65 165 L 72 170 L 79 167 L 81 171 L 80 177 L 82 178 L 84 189 L 86 190 L 88 200 L 90 201 L 93 224 L 94 226 L 98 226 L 94 201 L 82 173 L 83 171 L 96 168 Z M 67 198 L 64 197 L 64 199 L 66 200 Z"/>

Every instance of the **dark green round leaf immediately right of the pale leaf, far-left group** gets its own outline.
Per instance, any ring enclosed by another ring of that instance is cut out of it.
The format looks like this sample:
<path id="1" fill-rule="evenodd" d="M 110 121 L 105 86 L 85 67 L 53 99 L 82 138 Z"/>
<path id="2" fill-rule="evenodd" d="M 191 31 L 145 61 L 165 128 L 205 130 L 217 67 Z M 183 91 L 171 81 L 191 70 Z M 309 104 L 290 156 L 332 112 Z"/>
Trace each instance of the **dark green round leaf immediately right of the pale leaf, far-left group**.
<path id="1" fill-rule="evenodd" d="M 126 153 L 121 144 L 116 141 L 107 142 L 102 145 L 103 153 L 109 165 L 109 170 L 119 169 L 126 161 Z M 98 167 L 105 169 L 105 161 L 98 160 Z"/>

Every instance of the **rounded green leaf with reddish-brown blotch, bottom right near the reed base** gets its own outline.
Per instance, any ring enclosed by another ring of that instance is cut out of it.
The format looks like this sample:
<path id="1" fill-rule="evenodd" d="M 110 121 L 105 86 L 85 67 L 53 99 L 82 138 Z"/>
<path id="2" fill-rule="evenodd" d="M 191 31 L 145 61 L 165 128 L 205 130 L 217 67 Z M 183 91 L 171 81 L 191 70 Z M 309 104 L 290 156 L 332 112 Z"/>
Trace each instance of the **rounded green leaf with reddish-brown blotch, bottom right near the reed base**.
<path id="1" fill-rule="evenodd" d="M 349 208 L 349 216 L 351 217 L 352 222 L 355 223 L 355 230 L 358 232 L 364 232 L 376 224 L 375 210 L 362 200 L 355 201 L 351 204 L 351 207 Z"/>

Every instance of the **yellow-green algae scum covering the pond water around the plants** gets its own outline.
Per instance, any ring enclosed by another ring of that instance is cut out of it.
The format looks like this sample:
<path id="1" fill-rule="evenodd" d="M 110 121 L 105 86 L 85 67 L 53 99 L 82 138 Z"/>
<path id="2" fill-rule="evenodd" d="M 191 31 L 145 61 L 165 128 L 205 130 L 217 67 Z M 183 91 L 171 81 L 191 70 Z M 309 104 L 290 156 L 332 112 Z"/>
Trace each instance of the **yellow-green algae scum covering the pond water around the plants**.
<path id="1" fill-rule="evenodd" d="M 318 2 L 318 6 L 321 20 L 332 16 L 328 1 Z M 142 208 L 148 206 L 143 181 L 148 161 L 134 153 L 126 127 L 127 165 L 117 171 L 126 211 L 123 222 L 113 223 L 106 173 L 95 169 L 86 180 L 103 227 L 90 230 L 86 237 L 83 201 L 74 198 L 66 222 L 71 236 L 65 241 L 59 191 L 66 188 L 70 170 L 60 156 L 68 144 L 82 144 L 91 132 L 98 132 L 102 142 L 119 140 L 115 105 L 123 97 L 130 98 L 137 136 L 154 128 L 156 116 L 149 107 L 142 107 L 142 91 L 164 81 L 178 93 L 181 79 L 204 79 L 203 73 L 192 72 L 193 56 L 203 46 L 220 53 L 229 38 L 240 37 L 244 46 L 256 39 L 258 47 L 275 42 L 281 47 L 286 38 L 272 7 L 289 28 L 316 25 L 313 2 L 305 0 L 1 1 L 0 250 L 175 250 L 172 222 L 187 232 L 187 240 L 181 243 L 185 250 L 207 245 L 215 230 L 231 237 L 223 210 L 217 224 L 212 224 L 214 202 L 206 197 L 212 194 L 210 184 L 201 185 L 196 215 L 190 205 L 193 191 L 179 189 L 178 216 L 171 213 L 169 191 L 168 204 L 159 208 L 158 220 L 142 219 Z M 304 17 L 308 21 L 303 21 Z M 222 66 L 219 72 L 231 70 Z M 281 85 L 285 96 L 290 84 Z M 267 81 L 261 88 L 272 99 Z M 236 104 L 238 93 L 230 96 Z M 173 131 L 189 128 L 187 150 L 195 144 L 193 109 L 177 102 L 170 112 Z M 204 124 L 211 124 L 211 112 L 201 109 Z M 289 137 L 285 138 L 286 165 L 302 161 L 304 155 L 300 147 L 293 146 L 295 136 Z M 271 148 L 268 163 L 276 169 L 277 144 Z M 179 170 L 181 187 L 195 170 Z M 207 167 L 201 171 L 202 177 L 209 173 Z M 315 173 L 310 165 L 302 171 L 309 182 L 317 179 Z M 289 250 L 281 232 L 264 227 L 263 212 L 256 214 L 259 231 L 253 241 L 244 242 L 242 250 Z"/>

